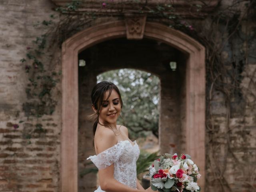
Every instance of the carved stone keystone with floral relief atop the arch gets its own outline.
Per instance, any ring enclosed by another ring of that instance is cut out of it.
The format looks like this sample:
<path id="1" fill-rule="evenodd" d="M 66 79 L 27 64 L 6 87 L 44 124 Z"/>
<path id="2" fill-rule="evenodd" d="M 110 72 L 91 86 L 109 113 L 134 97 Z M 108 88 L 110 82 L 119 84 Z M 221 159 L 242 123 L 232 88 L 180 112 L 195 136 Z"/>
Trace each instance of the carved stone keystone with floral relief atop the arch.
<path id="1" fill-rule="evenodd" d="M 125 15 L 127 39 L 142 39 L 146 24 L 146 15 Z"/>

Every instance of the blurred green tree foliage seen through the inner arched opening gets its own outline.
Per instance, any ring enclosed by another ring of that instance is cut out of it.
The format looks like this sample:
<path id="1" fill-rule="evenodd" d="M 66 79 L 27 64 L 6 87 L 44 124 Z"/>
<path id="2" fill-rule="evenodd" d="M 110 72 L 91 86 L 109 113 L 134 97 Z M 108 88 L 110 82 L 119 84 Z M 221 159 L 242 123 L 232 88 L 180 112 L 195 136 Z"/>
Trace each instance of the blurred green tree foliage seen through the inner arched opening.
<path id="1" fill-rule="evenodd" d="M 122 118 L 118 124 L 129 129 L 131 138 L 152 132 L 158 137 L 159 78 L 148 72 L 132 69 L 108 71 L 98 76 L 98 82 L 110 81 L 118 86 L 122 100 Z"/>

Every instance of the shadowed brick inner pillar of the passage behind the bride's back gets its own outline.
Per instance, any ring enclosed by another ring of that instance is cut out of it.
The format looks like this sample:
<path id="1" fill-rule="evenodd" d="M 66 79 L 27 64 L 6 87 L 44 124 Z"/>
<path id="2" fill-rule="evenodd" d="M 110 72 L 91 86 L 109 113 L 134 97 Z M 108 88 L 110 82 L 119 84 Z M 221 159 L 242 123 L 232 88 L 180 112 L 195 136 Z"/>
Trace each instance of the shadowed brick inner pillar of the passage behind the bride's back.
<path id="1" fill-rule="evenodd" d="M 96 84 L 96 75 L 90 71 L 89 66 L 79 67 L 79 117 L 78 117 L 78 191 L 93 192 L 96 189 L 96 174 L 90 173 L 80 176 L 85 168 L 94 168 L 87 165 L 89 155 L 94 155 L 92 142 L 93 122 L 88 120 L 88 115 L 93 113 L 90 94 Z"/>

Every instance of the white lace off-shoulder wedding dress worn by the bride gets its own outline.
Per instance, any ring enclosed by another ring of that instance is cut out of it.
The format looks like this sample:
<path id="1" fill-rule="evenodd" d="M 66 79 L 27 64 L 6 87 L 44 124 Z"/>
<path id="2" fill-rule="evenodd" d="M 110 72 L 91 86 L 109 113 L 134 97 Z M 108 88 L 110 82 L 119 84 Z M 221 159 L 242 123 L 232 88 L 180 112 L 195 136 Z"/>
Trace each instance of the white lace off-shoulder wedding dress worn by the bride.
<path id="1" fill-rule="evenodd" d="M 114 146 L 98 155 L 89 156 L 98 169 L 104 169 L 114 163 L 114 178 L 131 188 L 136 188 L 136 161 L 140 149 L 136 140 L 133 145 L 128 140 L 118 141 Z M 104 192 L 100 186 L 94 192 Z"/>

